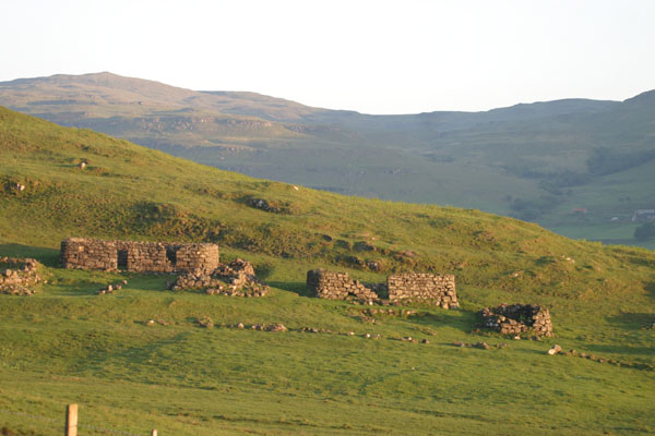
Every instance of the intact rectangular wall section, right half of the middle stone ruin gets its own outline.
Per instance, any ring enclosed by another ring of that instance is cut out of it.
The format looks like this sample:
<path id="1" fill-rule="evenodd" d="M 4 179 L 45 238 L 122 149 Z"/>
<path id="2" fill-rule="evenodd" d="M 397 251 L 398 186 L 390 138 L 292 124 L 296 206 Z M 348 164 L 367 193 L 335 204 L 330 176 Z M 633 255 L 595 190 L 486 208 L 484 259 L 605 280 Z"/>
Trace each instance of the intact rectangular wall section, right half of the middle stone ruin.
<path id="1" fill-rule="evenodd" d="M 443 308 L 458 307 L 455 276 L 426 272 L 395 274 L 386 278 L 391 302 L 431 302 Z"/>

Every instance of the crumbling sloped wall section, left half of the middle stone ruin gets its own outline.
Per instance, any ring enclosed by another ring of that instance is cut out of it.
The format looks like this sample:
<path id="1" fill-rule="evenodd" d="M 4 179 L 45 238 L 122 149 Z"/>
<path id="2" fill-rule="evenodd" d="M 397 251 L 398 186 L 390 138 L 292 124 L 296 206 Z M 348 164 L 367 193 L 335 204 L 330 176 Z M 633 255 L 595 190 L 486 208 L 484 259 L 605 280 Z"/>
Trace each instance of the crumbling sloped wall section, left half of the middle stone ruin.
<path id="1" fill-rule="evenodd" d="M 307 287 L 319 299 L 346 300 L 348 296 L 372 302 L 378 294 L 347 272 L 333 272 L 324 269 L 307 271 Z"/>

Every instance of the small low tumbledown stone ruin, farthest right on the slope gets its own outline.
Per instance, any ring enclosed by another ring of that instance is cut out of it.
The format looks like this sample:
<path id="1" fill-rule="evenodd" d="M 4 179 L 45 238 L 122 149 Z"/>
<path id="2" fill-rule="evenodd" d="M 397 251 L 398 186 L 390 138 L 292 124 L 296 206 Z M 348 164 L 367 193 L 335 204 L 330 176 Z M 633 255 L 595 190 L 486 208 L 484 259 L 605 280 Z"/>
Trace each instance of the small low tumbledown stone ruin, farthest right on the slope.
<path id="1" fill-rule="evenodd" d="M 483 325 L 503 335 L 521 335 L 534 330 L 536 336 L 552 336 L 550 312 L 539 305 L 501 304 L 480 312 Z"/>

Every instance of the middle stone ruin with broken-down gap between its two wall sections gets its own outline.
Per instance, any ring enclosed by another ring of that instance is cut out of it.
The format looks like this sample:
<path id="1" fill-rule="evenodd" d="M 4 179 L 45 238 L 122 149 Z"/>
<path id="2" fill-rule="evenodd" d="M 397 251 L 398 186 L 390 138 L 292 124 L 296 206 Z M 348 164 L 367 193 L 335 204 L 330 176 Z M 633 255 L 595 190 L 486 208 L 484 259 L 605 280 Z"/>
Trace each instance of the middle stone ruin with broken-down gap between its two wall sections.
<path id="1" fill-rule="evenodd" d="M 364 284 L 347 272 L 312 269 L 307 272 L 307 288 L 320 299 L 362 302 L 380 301 L 378 292 L 386 291 L 390 303 L 402 301 L 430 302 L 443 308 L 458 307 L 455 277 L 433 274 L 405 272 L 389 276 L 386 283 Z"/>

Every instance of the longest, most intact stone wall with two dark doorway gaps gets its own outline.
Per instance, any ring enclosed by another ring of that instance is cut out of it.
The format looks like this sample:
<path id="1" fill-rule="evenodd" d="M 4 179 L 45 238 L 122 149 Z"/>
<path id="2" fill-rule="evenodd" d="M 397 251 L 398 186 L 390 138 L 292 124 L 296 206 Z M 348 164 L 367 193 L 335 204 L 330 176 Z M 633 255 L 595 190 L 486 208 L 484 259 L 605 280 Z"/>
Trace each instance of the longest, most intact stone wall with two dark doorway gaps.
<path id="1" fill-rule="evenodd" d="M 168 244 L 162 242 L 103 241 L 69 238 L 61 242 L 64 268 L 139 272 L 210 272 L 219 265 L 216 244 Z"/>

